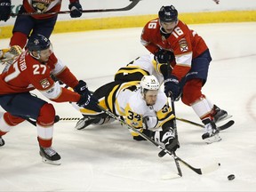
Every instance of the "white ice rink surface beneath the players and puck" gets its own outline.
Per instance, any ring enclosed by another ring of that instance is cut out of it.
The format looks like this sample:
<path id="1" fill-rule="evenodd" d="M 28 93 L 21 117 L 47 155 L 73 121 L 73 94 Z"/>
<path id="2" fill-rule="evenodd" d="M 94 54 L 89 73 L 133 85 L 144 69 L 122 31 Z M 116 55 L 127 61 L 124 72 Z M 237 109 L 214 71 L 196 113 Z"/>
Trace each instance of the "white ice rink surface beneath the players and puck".
<path id="1" fill-rule="evenodd" d="M 214 172 L 198 175 L 180 164 L 175 174 L 172 156 L 157 156 L 159 148 L 132 140 L 118 123 L 90 125 L 78 131 L 76 121 L 55 124 L 53 148 L 62 164 L 44 164 L 39 156 L 36 127 L 22 123 L 4 136 L 0 148 L 0 191 L 256 191 L 256 23 L 190 25 L 212 52 L 204 94 L 232 115 L 236 124 L 220 132 L 222 140 L 207 145 L 204 130 L 177 121 L 177 156 L 196 168 L 220 163 Z M 148 53 L 140 44 L 142 28 L 99 30 L 52 35 L 54 52 L 94 91 L 113 79 L 116 70 Z M 0 47 L 9 40 L 1 40 Z M 38 97 L 44 97 L 35 92 Z M 81 117 L 68 103 L 55 103 L 60 117 Z M 201 123 L 178 101 L 176 115 Z M 223 123 L 220 123 L 223 124 Z M 235 174 L 235 180 L 228 180 Z"/>

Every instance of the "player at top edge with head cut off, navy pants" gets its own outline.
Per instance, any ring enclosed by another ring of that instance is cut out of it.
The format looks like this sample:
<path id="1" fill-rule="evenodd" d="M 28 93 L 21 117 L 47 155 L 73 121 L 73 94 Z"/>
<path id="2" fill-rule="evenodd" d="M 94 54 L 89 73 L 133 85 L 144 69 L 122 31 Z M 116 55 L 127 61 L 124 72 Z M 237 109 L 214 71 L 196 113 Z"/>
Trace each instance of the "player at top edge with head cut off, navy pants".
<path id="1" fill-rule="evenodd" d="M 0 0 L 0 20 L 9 20 L 11 13 L 11 0 Z M 30 33 L 41 34 L 49 38 L 55 26 L 58 14 L 31 14 L 22 15 L 27 12 L 60 12 L 62 0 L 23 0 L 19 14 L 12 29 L 10 46 L 19 45 L 21 49 L 27 44 Z M 82 6 L 79 0 L 69 0 L 68 8 L 70 17 L 77 18 L 82 15 Z"/>

